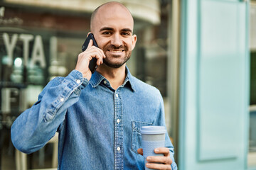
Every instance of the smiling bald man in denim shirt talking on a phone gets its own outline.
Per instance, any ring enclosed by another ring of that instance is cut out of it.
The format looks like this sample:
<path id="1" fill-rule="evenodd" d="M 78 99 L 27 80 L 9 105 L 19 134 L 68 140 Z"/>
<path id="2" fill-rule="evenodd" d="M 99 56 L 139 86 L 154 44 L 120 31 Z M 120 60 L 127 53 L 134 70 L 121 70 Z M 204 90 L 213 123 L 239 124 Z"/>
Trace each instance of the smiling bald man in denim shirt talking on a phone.
<path id="1" fill-rule="evenodd" d="M 21 152 L 40 149 L 59 133 L 58 169 L 144 169 L 140 128 L 164 125 L 164 104 L 154 87 L 139 81 L 126 62 L 135 47 L 134 21 L 128 9 L 109 2 L 92 13 L 90 41 L 75 70 L 50 81 L 38 101 L 11 128 Z M 99 66 L 88 69 L 92 58 Z M 166 133 L 164 157 L 148 157 L 151 169 L 177 169 Z M 156 162 L 162 164 L 156 164 Z"/>

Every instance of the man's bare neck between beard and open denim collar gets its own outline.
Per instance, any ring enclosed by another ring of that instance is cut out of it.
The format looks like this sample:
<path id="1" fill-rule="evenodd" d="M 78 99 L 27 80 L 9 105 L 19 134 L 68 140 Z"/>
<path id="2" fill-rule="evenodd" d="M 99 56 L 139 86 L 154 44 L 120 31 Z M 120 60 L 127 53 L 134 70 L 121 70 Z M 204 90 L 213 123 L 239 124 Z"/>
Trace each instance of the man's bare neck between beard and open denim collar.
<path id="1" fill-rule="evenodd" d="M 119 68 L 108 67 L 106 64 L 101 64 L 97 68 L 97 72 L 102 74 L 108 81 L 110 81 L 110 85 L 113 89 L 117 89 L 124 83 L 124 79 L 126 77 L 125 74 L 125 64 Z"/>

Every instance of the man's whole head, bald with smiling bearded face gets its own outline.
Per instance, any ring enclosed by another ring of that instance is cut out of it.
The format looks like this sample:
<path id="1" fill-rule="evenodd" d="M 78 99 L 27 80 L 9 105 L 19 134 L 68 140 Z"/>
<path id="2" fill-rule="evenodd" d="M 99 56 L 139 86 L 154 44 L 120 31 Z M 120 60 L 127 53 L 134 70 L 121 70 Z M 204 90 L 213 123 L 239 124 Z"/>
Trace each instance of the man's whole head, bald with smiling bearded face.
<path id="1" fill-rule="evenodd" d="M 107 3 L 97 9 L 91 31 L 106 55 L 107 66 L 119 68 L 131 57 L 137 40 L 137 36 L 132 35 L 133 26 L 131 13 L 119 3 Z"/>

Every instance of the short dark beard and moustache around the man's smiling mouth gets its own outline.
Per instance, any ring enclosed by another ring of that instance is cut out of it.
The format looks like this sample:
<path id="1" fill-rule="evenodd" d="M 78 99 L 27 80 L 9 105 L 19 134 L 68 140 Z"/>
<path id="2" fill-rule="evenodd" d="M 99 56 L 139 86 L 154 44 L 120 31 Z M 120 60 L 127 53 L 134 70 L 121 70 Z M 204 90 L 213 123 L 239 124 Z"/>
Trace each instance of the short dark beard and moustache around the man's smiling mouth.
<path id="1" fill-rule="evenodd" d="M 106 47 L 106 49 L 113 49 L 113 50 L 124 49 L 125 55 L 124 57 L 120 57 L 119 55 L 107 55 L 106 54 L 107 50 L 104 50 L 106 58 L 103 59 L 103 63 L 106 64 L 108 67 L 119 68 L 129 60 L 129 58 L 132 55 L 132 51 L 128 50 L 127 47 L 125 46 L 123 47 L 122 45 L 120 47 L 114 47 L 114 45 L 110 45 L 110 46 Z"/>

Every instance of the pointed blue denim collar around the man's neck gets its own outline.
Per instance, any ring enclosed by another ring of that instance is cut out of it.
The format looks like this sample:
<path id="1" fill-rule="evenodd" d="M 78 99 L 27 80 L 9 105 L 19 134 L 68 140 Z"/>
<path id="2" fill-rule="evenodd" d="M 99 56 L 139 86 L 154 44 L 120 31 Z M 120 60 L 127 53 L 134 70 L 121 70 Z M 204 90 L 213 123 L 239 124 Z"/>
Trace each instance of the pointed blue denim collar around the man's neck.
<path id="1" fill-rule="evenodd" d="M 125 67 L 125 72 L 127 76 L 124 79 L 124 83 L 122 84 L 121 87 L 127 86 L 129 87 L 132 91 L 135 91 L 134 89 L 134 82 L 133 82 L 133 77 L 132 74 L 129 72 L 128 67 Z M 92 78 L 90 79 L 90 84 L 92 85 L 93 88 L 97 87 L 102 81 L 107 80 L 105 77 L 102 76 L 102 74 L 98 73 L 97 71 L 92 74 Z"/>

